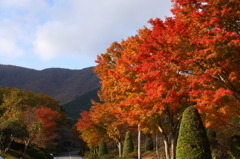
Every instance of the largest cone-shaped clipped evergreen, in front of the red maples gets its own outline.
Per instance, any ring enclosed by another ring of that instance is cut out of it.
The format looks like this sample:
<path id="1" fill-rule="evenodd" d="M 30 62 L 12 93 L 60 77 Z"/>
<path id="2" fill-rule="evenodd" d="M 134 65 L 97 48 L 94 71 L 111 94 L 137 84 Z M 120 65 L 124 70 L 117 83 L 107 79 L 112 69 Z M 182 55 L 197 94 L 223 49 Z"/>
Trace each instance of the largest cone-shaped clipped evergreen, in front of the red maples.
<path id="1" fill-rule="evenodd" d="M 211 159 L 211 150 L 198 111 L 193 107 L 183 113 L 177 142 L 177 159 Z"/>

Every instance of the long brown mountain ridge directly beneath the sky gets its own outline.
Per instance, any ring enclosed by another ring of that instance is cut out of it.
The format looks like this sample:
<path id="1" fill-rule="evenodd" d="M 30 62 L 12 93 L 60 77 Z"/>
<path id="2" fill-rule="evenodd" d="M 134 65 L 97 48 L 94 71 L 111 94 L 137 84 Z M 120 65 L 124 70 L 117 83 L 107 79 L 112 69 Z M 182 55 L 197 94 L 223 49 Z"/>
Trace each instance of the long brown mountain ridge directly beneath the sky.
<path id="1" fill-rule="evenodd" d="M 49 68 L 38 71 L 12 65 L 0 65 L 0 86 L 44 93 L 66 104 L 100 87 L 100 80 L 92 71 L 93 68 L 82 70 Z"/>

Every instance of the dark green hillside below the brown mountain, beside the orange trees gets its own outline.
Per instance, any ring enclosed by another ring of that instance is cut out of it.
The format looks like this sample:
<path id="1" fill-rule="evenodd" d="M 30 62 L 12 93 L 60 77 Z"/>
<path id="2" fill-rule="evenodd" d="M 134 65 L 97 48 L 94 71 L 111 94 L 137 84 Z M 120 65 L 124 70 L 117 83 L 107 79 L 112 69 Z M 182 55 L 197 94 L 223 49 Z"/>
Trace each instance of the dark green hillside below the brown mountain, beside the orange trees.
<path id="1" fill-rule="evenodd" d="M 75 100 L 64 104 L 63 108 L 67 112 L 67 116 L 73 119 L 80 118 L 79 113 L 83 110 L 89 111 L 92 106 L 91 100 L 93 99 L 96 102 L 100 102 L 99 97 L 97 96 L 97 92 L 100 88 L 89 91 L 80 97 L 77 97 Z"/>

